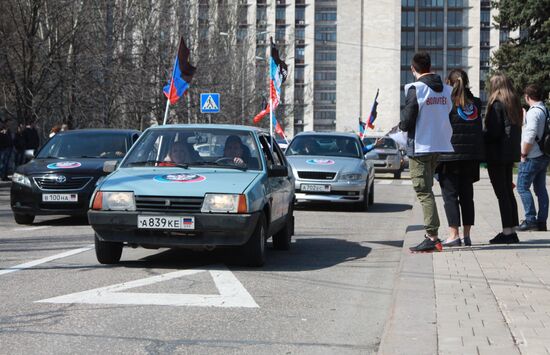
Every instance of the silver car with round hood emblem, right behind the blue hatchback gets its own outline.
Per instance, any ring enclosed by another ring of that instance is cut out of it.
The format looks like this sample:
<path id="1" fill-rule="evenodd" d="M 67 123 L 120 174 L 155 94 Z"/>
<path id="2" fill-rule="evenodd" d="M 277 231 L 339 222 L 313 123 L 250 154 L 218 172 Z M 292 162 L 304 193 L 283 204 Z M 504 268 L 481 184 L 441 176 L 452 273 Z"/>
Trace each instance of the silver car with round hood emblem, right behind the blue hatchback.
<path id="1" fill-rule="evenodd" d="M 296 178 L 296 202 L 374 202 L 374 166 L 353 133 L 299 133 L 286 150 Z"/>

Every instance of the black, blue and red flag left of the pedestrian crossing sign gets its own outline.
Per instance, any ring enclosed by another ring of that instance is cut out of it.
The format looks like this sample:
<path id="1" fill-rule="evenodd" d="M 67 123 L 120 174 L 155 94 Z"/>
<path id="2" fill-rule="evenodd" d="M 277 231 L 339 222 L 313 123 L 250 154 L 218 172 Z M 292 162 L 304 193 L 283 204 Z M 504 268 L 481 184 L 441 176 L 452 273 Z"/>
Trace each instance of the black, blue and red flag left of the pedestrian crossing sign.
<path id="1" fill-rule="evenodd" d="M 170 83 L 163 89 L 164 95 L 170 101 L 170 105 L 175 104 L 185 94 L 196 69 L 189 63 L 189 48 L 187 48 L 183 37 L 181 37 L 174 62 L 174 70 L 172 71 L 172 78 L 170 79 Z"/>

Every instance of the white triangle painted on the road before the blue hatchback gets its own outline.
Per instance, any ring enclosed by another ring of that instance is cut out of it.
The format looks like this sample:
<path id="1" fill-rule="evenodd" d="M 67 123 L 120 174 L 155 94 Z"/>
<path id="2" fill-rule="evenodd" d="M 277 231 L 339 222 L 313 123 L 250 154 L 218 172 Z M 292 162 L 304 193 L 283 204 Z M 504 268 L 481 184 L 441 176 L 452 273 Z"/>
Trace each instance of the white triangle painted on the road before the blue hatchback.
<path id="1" fill-rule="evenodd" d="M 216 287 L 218 288 L 219 294 L 199 295 L 120 292 L 131 288 L 172 280 L 178 277 L 198 274 L 200 272 L 210 273 Z M 123 282 L 116 285 L 100 287 L 93 290 L 72 293 L 69 295 L 48 298 L 35 302 L 195 307 L 259 307 L 252 296 L 243 287 L 241 282 L 223 265 L 217 265 L 212 270 L 190 269 L 174 271 L 163 275 Z"/>

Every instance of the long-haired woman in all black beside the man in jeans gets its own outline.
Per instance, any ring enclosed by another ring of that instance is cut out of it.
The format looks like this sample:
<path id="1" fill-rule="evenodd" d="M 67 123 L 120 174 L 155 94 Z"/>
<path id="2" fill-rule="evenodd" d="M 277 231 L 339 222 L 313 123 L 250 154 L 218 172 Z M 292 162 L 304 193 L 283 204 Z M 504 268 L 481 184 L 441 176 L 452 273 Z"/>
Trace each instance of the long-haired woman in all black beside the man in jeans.
<path id="1" fill-rule="evenodd" d="M 502 232 L 491 244 L 518 243 L 514 231 L 519 224 L 518 206 L 514 197 L 513 168 L 520 160 L 522 108 L 512 82 L 497 73 L 489 80 L 487 114 L 483 138 L 487 171 L 498 199 Z"/>

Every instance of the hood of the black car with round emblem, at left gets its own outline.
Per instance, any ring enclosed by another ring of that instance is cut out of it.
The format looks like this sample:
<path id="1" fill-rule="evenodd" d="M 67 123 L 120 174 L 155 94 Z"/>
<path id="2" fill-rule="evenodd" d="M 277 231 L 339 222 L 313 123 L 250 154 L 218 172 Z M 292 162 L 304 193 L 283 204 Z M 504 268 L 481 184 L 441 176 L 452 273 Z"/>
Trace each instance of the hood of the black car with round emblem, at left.
<path id="1" fill-rule="evenodd" d="M 98 158 L 80 159 L 33 159 L 17 168 L 18 173 L 25 175 L 35 174 L 64 174 L 64 175 L 105 175 L 103 163 L 107 160 Z"/>

